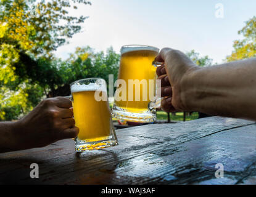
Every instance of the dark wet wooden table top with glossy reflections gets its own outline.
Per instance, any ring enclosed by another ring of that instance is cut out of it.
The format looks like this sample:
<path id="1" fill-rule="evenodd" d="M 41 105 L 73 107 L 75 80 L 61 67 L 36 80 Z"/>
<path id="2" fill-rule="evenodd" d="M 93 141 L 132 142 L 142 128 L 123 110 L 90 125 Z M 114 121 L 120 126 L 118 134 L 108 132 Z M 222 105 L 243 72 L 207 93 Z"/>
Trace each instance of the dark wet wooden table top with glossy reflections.
<path id="1" fill-rule="evenodd" d="M 0 154 L 0 183 L 255 184 L 256 124 L 218 116 L 117 130 L 119 145 L 80 155 L 71 139 Z M 39 178 L 30 178 L 30 164 Z M 224 167 L 216 179 L 215 165 Z"/>

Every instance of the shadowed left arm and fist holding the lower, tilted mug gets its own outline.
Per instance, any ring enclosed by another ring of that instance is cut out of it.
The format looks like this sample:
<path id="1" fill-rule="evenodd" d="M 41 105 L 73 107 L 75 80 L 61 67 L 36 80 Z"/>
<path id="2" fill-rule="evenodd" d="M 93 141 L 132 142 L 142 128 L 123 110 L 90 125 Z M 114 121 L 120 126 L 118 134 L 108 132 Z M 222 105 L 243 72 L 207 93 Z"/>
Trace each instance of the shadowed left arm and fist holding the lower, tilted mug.
<path id="1" fill-rule="evenodd" d="M 76 137 L 72 103 L 64 97 L 47 98 L 19 121 L 0 122 L 0 153 L 44 147 Z"/>

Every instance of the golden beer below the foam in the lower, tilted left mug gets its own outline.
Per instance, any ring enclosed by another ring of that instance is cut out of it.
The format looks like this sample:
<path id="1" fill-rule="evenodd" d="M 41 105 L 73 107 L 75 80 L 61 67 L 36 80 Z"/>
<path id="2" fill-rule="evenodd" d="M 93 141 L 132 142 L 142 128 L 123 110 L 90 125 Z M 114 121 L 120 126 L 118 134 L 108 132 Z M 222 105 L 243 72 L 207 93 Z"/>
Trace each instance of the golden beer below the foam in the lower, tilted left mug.
<path id="1" fill-rule="evenodd" d="M 105 93 L 105 92 L 104 92 Z M 96 101 L 95 91 L 73 92 L 75 126 L 78 140 L 105 140 L 110 135 L 110 110 L 107 101 Z"/>

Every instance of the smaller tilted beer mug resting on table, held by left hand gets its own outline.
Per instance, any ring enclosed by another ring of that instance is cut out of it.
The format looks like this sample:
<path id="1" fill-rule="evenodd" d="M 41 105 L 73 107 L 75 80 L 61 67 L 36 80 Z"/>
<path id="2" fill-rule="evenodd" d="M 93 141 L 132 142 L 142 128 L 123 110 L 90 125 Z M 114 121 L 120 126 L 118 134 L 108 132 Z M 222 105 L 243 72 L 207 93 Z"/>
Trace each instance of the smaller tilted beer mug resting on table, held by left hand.
<path id="1" fill-rule="evenodd" d="M 75 150 L 95 150 L 118 145 L 104 79 L 81 79 L 70 84 L 73 116 L 79 134 Z"/>

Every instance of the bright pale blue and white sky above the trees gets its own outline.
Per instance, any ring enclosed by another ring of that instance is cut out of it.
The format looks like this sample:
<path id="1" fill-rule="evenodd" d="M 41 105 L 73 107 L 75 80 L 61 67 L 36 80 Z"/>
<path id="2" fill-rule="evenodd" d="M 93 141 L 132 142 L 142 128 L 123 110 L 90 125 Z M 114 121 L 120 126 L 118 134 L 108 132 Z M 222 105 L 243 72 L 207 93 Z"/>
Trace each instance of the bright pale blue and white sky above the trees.
<path id="1" fill-rule="evenodd" d="M 256 15 L 255 0 L 91 0 L 75 14 L 88 15 L 83 32 L 60 47 L 57 57 L 67 58 L 80 46 L 96 51 L 126 44 L 171 47 L 183 52 L 195 49 L 221 63 L 241 38 L 238 30 Z M 223 4 L 223 18 L 215 17 L 215 5 Z"/>

